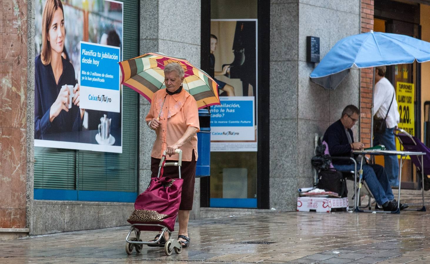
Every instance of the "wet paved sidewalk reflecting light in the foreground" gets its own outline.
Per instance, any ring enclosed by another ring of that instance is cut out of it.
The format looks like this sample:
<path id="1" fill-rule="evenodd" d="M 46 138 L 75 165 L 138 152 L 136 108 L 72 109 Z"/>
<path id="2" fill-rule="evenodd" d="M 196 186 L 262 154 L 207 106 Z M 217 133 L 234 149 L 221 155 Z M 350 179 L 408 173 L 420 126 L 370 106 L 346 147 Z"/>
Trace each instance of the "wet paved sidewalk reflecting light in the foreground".
<path id="1" fill-rule="evenodd" d="M 424 264 L 429 228 L 429 212 L 260 213 L 191 221 L 191 246 L 171 256 L 147 246 L 127 255 L 124 226 L 0 241 L 0 263 Z"/>

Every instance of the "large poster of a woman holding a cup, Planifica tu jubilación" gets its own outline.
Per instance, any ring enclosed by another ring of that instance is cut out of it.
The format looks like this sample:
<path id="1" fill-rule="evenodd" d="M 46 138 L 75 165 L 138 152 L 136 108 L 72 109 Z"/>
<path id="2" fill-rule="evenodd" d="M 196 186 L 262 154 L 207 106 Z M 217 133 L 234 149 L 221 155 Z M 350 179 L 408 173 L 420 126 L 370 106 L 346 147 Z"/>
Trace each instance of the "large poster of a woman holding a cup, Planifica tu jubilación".
<path id="1" fill-rule="evenodd" d="M 35 9 L 34 146 L 122 153 L 123 3 Z"/>

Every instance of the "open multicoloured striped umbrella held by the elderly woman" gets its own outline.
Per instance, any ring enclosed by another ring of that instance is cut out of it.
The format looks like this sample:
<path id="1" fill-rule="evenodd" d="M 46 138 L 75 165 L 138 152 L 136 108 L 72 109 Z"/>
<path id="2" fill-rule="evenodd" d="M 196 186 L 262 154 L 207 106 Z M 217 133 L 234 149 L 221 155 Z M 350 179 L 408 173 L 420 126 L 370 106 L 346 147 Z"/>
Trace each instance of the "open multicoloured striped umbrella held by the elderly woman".
<path id="1" fill-rule="evenodd" d="M 121 84 L 132 88 L 151 102 L 156 91 L 166 88 L 164 67 L 171 62 L 180 64 L 184 69 L 183 88 L 194 96 L 199 109 L 220 104 L 218 85 L 207 73 L 194 67 L 186 59 L 173 58 L 162 53 L 146 53 L 121 61 Z"/>

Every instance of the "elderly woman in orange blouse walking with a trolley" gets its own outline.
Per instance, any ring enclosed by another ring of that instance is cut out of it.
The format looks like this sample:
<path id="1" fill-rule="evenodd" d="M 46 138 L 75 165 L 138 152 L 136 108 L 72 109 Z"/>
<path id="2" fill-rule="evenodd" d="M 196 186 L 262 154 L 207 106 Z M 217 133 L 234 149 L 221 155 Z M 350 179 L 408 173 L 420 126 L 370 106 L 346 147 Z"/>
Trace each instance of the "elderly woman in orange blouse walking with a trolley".
<path id="1" fill-rule="evenodd" d="M 166 89 L 154 93 L 151 108 L 146 116 L 148 127 L 155 130 L 157 134 L 151 152 L 151 177 L 157 177 L 158 166 L 164 150 L 169 155 L 166 162 L 178 161 L 178 154 L 175 154 L 175 149 L 182 150 L 181 174 L 184 183 L 178 212 L 178 241 L 182 243 L 182 247 L 186 248 L 190 245 L 188 220 L 193 208 L 197 132 L 200 131 L 199 115 L 196 100 L 182 88 L 184 70 L 181 65 L 177 63 L 167 64 L 164 68 L 164 76 Z M 160 117 L 158 118 L 159 114 Z M 163 176 L 177 178 L 178 171 L 175 167 L 165 167 Z M 167 233 L 165 233 L 165 237 L 161 238 L 161 244 L 169 239 L 166 236 L 168 236 Z M 158 237 L 160 234 L 155 237 L 155 240 Z"/>

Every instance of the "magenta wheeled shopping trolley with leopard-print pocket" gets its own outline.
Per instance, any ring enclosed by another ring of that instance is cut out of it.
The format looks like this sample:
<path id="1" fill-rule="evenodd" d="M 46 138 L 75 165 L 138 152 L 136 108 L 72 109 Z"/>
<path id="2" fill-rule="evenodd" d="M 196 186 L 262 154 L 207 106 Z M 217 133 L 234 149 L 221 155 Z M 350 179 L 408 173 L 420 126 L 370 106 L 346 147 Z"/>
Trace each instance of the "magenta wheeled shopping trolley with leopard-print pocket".
<path id="1" fill-rule="evenodd" d="M 182 183 L 184 182 L 184 179 L 181 178 L 182 151 L 176 149 L 175 152 L 179 154 L 178 162 L 166 163 L 166 151 L 164 151 L 157 178 L 151 178 L 148 188 L 136 198 L 135 210 L 127 219 L 127 222 L 132 224 L 126 237 L 127 254 L 131 254 L 133 248 L 137 252 L 141 252 L 143 245 L 157 245 L 165 232 L 169 233 L 169 240 L 163 245 L 166 255 L 171 255 L 173 249 L 176 254 L 182 251 L 182 243 L 170 239 L 178 216 Z M 179 177 L 175 179 L 163 177 L 163 167 L 165 166 L 177 166 Z M 144 242 L 140 239 L 141 231 L 161 231 L 161 235 L 154 242 Z M 135 233 L 135 237 L 129 238 L 132 232 Z"/>

